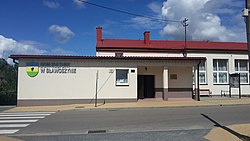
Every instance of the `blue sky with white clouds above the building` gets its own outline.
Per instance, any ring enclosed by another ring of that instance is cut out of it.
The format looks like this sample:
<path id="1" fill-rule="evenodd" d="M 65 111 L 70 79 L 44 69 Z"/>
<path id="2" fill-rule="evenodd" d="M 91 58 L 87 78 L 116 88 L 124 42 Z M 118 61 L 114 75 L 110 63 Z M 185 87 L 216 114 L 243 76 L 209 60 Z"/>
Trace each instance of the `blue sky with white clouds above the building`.
<path id="1" fill-rule="evenodd" d="M 0 58 L 10 54 L 94 56 L 96 27 L 103 38 L 246 42 L 245 0 L 1 0 Z"/>

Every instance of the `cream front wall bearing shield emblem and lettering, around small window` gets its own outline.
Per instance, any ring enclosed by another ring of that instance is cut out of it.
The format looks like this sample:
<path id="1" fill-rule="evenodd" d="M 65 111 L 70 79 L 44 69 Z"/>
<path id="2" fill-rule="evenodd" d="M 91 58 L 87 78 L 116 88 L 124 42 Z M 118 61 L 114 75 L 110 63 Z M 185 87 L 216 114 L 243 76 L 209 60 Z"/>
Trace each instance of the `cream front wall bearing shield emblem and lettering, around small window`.
<path id="1" fill-rule="evenodd" d="M 34 78 L 26 74 L 26 62 L 71 62 L 76 74 L 41 73 Z M 99 71 L 98 97 L 108 99 L 137 98 L 137 68 L 121 67 L 125 63 L 105 65 L 100 61 L 80 60 L 19 60 L 18 99 L 92 99 L 96 90 L 96 73 Z M 107 63 L 107 62 L 106 62 Z M 100 65 L 104 67 L 100 67 Z M 112 67 L 113 66 L 113 67 Z M 114 67 L 117 66 L 117 67 Z M 116 86 L 115 69 L 129 69 L 129 86 Z M 131 73 L 135 70 L 135 73 Z"/>

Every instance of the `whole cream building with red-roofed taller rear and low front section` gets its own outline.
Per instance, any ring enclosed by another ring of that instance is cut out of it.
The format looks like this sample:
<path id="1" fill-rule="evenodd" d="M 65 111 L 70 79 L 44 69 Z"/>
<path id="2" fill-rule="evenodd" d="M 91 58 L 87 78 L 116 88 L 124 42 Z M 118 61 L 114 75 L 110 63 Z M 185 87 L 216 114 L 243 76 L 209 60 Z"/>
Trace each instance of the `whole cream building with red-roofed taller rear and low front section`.
<path id="1" fill-rule="evenodd" d="M 187 100 L 195 90 L 198 99 L 228 91 L 231 73 L 241 74 L 241 93 L 250 94 L 246 43 L 187 41 L 185 47 L 150 40 L 149 32 L 144 40 L 123 40 L 96 31 L 96 56 L 11 55 L 19 60 L 18 105 L 91 103 L 96 94 L 99 102 Z"/>

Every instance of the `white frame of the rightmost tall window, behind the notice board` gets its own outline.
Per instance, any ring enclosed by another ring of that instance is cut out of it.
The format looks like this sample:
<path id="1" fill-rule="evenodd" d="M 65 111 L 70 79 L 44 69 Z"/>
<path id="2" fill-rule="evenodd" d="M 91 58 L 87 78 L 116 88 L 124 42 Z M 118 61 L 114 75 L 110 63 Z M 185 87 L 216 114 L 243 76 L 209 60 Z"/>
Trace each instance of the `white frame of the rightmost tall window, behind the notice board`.
<path id="1" fill-rule="evenodd" d="M 240 62 L 241 61 L 246 61 L 247 63 L 247 68 L 246 70 L 240 70 Z M 235 59 L 234 60 L 234 71 L 235 73 L 239 73 L 239 74 L 247 74 L 247 82 L 242 82 L 242 75 L 240 75 L 240 83 L 241 84 L 249 84 L 249 66 L 248 66 L 248 60 L 244 60 L 244 59 Z"/>

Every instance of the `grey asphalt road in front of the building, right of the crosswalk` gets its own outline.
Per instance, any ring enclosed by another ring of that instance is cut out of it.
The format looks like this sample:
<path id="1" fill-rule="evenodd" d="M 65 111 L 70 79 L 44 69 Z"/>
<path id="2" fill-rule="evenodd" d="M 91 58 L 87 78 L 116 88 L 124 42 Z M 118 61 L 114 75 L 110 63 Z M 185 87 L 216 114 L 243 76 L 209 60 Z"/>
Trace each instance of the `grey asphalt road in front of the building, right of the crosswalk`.
<path id="1" fill-rule="evenodd" d="M 250 123 L 250 106 L 62 111 L 18 131 L 25 140 L 204 140 L 215 126 Z M 101 133 L 98 133 L 101 132 Z"/>

